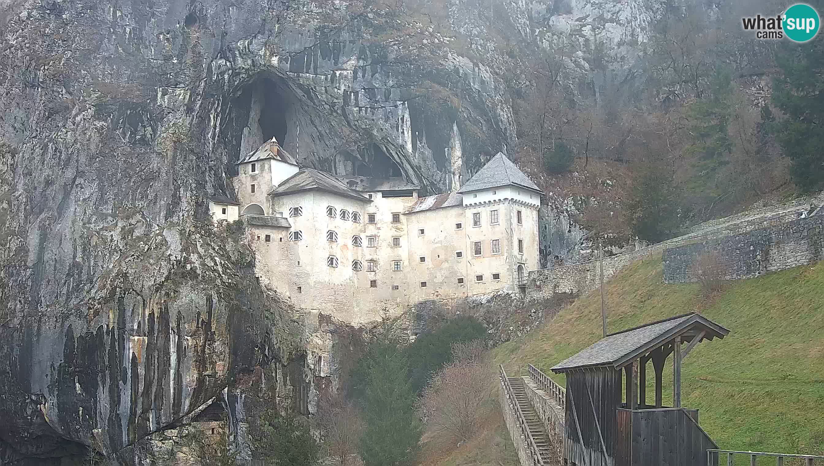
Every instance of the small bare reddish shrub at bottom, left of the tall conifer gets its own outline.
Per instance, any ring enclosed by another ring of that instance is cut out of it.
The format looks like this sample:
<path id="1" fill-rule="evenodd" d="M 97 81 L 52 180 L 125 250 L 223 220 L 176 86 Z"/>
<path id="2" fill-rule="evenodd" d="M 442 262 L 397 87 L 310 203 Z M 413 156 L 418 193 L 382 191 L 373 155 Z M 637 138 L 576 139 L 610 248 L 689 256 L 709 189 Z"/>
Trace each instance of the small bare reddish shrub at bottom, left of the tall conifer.
<path id="1" fill-rule="evenodd" d="M 353 455 L 358 452 L 358 441 L 363 433 L 358 408 L 343 395 L 336 395 L 321 402 L 321 440 L 331 457 L 338 458 L 344 466 L 354 464 Z"/>

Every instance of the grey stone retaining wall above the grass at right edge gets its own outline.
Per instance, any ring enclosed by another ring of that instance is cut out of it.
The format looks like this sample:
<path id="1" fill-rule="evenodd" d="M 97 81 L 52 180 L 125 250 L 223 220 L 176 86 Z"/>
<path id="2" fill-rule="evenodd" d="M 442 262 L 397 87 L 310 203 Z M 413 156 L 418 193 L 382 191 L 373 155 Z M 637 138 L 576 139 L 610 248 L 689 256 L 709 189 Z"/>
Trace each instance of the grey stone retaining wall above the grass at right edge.
<path id="1" fill-rule="evenodd" d="M 824 257 L 824 215 L 667 249 L 662 255 L 664 283 L 695 281 L 693 264 L 709 251 L 718 255 L 726 280 L 803 266 Z"/>

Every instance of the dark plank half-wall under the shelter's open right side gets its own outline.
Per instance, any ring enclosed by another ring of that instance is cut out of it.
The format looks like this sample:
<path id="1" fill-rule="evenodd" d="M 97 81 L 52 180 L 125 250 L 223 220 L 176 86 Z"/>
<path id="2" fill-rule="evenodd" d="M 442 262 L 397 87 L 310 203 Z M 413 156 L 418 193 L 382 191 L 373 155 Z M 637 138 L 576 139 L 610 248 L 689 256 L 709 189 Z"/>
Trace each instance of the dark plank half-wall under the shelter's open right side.
<path id="1" fill-rule="evenodd" d="M 616 466 L 695 466 L 706 464 L 708 449 L 718 448 L 680 409 L 634 411 L 631 417 L 630 462 Z"/>

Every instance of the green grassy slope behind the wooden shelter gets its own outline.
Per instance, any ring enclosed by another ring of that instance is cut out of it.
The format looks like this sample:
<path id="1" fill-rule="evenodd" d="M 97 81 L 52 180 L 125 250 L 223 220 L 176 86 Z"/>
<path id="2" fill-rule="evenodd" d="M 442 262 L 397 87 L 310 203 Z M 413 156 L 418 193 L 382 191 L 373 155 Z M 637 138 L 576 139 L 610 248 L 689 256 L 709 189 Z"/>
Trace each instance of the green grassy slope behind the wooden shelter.
<path id="1" fill-rule="evenodd" d="M 711 299 L 697 284 L 663 285 L 660 257 L 636 262 L 606 287 L 607 332 L 698 311 L 730 329 L 684 360 L 682 406 L 724 450 L 824 454 L 824 262 L 728 282 Z M 508 372 L 549 368 L 602 336 L 600 294 L 565 308 L 544 327 L 494 350 Z M 664 403 L 672 403 L 672 357 Z M 648 401 L 653 402 L 652 365 Z M 526 374 L 524 371 L 523 374 Z M 772 460 L 775 464 L 775 459 Z"/>

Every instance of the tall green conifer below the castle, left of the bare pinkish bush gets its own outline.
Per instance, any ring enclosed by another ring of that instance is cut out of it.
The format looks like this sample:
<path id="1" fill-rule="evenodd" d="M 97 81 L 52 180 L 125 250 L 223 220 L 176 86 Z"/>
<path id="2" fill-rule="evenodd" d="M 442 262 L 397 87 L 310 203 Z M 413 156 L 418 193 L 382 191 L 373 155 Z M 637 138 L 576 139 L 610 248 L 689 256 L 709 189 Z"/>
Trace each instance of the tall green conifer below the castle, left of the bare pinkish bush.
<path id="1" fill-rule="evenodd" d="M 423 427 L 415 412 L 405 355 L 388 341 L 377 341 L 364 355 L 363 431 L 358 451 L 366 466 L 413 464 Z"/>

